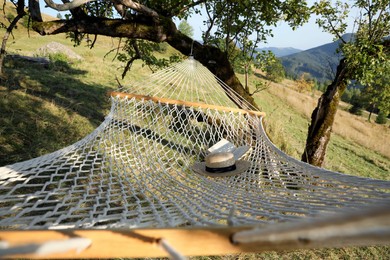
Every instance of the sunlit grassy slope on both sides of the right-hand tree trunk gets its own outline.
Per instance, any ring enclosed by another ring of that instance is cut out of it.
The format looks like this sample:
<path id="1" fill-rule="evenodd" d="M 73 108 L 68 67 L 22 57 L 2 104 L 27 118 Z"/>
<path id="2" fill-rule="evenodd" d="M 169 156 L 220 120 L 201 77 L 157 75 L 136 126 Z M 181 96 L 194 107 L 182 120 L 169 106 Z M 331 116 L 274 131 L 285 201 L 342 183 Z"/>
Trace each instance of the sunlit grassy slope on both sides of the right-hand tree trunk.
<path id="1" fill-rule="evenodd" d="M 294 91 L 294 82 L 290 80 L 283 83 L 273 84 L 258 93 L 256 102 L 267 113 L 267 132 L 271 140 L 290 156 L 300 159 L 318 96 Z M 390 180 L 389 135 L 387 126 L 369 123 L 364 117 L 339 110 L 323 167 Z"/>

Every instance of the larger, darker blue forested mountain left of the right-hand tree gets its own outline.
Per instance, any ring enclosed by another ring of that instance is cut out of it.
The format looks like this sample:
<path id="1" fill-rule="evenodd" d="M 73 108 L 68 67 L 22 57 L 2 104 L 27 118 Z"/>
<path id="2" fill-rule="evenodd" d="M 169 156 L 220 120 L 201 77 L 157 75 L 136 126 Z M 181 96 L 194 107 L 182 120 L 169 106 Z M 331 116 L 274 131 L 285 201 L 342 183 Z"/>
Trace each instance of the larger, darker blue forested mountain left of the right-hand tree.
<path id="1" fill-rule="evenodd" d="M 351 40 L 353 34 L 345 34 L 345 41 Z M 340 40 L 327 43 L 309 50 L 281 57 L 287 75 L 299 77 L 309 73 L 318 82 L 332 80 L 341 54 L 336 53 Z"/>

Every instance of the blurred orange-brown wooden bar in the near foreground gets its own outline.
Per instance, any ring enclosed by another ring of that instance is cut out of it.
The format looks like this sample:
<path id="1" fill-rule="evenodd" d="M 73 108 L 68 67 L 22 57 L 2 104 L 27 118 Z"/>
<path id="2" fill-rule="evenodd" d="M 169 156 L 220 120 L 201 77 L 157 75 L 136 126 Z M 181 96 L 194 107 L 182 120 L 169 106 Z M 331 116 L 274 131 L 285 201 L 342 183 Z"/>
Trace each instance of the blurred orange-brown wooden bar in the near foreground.
<path id="1" fill-rule="evenodd" d="M 189 228 L 189 229 L 137 229 L 137 230 L 31 230 L 0 231 L 0 240 L 6 241 L 10 248 L 28 248 L 37 250 L 39 245 L 50 241 L 65 241 L 69 238 L 87 238 L 91 245 L 76 253 L 38 255 L 32 252 L 24 254 L 2 254 L 2 258 L 122 258 L 122 257 L 166 257 L 159 245 L 164 239 L 177 252 L 183 255 L 221 255 L 229 253 L 259 251 L 253 245 L 234 245 L 230 237 L 237 231 L 248 228 Z M 15 251 L 15 250 L 13 250 Z M 16 250 L 17 251 L 17 250 Z"/>

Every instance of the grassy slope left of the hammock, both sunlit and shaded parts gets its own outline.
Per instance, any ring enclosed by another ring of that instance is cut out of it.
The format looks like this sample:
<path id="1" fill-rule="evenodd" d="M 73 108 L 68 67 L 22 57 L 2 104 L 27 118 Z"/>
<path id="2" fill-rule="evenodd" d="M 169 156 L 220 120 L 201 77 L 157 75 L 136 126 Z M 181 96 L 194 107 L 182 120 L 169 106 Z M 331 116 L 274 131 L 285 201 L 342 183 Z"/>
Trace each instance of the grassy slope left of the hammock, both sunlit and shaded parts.
<path id="1" fill-rule="evenodd" d="M 1 32 L 4 29 L 0 30 Z M 0 166 L 28 160 L 66 147 L 91 133 L 108 114 L 109 91 L 117 89 L 121 66 L 114 59 L 118 40 L 99 37 L 94 49 L 73 47 L 65 35 L 39 36 L 19 26 L 7 52 L 35 56 L 37 49 L 55 41 L 83 60 L 50 55 L 49 66 L 7 58 L 0 84 Z M 28 42 L 28 44 L 26 44 Z M 126 85 L 149 73 L 135 64 Z"/>

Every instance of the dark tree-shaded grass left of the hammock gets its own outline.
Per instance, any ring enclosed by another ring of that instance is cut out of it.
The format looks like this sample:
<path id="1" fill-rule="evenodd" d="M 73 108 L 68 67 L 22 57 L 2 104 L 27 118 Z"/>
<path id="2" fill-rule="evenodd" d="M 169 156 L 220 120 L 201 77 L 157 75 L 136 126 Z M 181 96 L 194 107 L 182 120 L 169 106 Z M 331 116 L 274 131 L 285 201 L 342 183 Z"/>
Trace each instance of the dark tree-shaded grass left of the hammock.
<path id="1" fill-rule="evenodd" d="M 89 134 L 109 111 L 108 87 L 75 78 L 87 71 L 7 64 L 0 84 L 0 166 L 41 156 Z"/>

